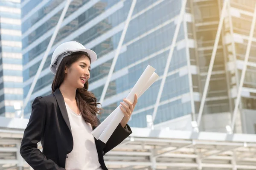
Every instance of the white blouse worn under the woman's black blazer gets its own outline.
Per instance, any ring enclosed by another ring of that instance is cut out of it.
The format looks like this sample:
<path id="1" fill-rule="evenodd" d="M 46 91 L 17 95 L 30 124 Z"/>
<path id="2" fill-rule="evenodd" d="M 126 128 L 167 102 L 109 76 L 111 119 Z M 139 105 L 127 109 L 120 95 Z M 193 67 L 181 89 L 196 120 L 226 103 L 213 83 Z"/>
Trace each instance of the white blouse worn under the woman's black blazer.
<path id="1" fill-rule="evenodd" d="M 65 170 L 102 170 L 92 126 L 84 121 L 81 113 L 76 114 L 65 104 L 74 141 L 73 150 L 67 154 Z"/>

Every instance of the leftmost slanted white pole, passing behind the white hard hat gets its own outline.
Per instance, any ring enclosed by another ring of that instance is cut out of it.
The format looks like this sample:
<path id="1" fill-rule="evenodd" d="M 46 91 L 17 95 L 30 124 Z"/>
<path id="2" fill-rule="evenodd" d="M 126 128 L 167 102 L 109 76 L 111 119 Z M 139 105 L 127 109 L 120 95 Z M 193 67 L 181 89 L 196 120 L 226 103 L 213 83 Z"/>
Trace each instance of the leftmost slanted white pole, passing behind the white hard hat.
<path id="1" fill-rule="evenodd" d="M 71 2 L 71 0 L 67 0 L 66 5 L 63 8 L 61 16 L 60 16 L 60 18 L 58 20 L 58 23 L 57 23 L 57 25 L 55 27 L 55 30 L 54 30 L 53 34 L 52 34 L 51 40 L 50 40 L 50 42 L 49 42 L 49 44 L 47 46 L 47 49 L 46 49 L 46 51 L 44 53 L 44 57 L 42 58 L 42 61 L 41 61 L 40 65 L 39 65 L 39 68 L 38 68 L 38 71 L 35 74 L 33 82 L 32 82 L 32 84 L 31 84 L 31 86 L 29 88 L 29 92 L 28 92 L 28 94 L 26 96 L 26 99 L 25 99 L 25 101 L 23 103 L 23 109 L 22 109 L 23 111 L 24 111 L 24 108 L 26 108 L 27 103 L 29 102 L 30 96 L 31 96 L 31 94 L 32 94 L 32 92 L 33 92 L 33 90 L 35 88 L 35 84 L 38 81 L 38 78 L 39 78 L 39 76 L 41 74 L 41 71 L 43 69 L 44 63 L 46 62 L 47 56 L 49 55 L 49 52 L 50 52 L 50 50 L 52 48 L 52 44 L 53 44 L 53 42 L 54 42 L 54 40 L 55 40 L 55 38 L 56 38 L 56 36 L 58 34 L 58 31 L 59 31 L 59 29 L 61 27 L 61 23 L 62 23 L 65 15 L 67 13 L 67 9 L 68 9 L 68 7 L 70 5 L 70 2 Z"/>

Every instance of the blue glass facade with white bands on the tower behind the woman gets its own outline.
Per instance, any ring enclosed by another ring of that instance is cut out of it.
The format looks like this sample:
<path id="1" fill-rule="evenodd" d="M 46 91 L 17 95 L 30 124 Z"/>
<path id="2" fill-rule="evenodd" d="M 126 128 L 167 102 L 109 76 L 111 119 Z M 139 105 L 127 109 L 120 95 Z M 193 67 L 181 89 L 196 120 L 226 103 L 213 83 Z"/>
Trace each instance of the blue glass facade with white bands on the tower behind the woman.
<path id="1" fill-rule="evenodd" d="M 28 2 L 22 7 L 21 16 L 26 18 L 21 26 L 24 35 L 22 39 L 24 66 L 23 98 L 26 97 L 32 83 L 32 78 L 35 76 L 40 65 L 41 60 L 37 58 L 46 50 L 52 35 L 49 32 L 52 32 L 53 26 L 57 24 L 64 7 L 64 3 L 61 4 L 58 2 L 59 0 L 49 0 L 46 4 L 39 7 L 36 4 L 40 5 L 41 0 L 37 1 Z M 96 51 L 99 64 L 97 66 L 91 65 L 89 90 L 95 94 L 97 99 L 100 98 L 104 87 L 104 83 L 99 83 L 99 81 L 108 75 L 122 34 L 124 22 L 131 7 L 131 2 L 132 0 L 72 1 L 64 17 L 64 25 L 61 26 L 53 43 L 54 46 L 63 39 L 65 41 L 75 40 L 84 44 L 86 48 Z M 33 8 L 37 7 L 38 11 L 35 11 L 34 14 L 29 14 L 26 8 L 31 8 L 31 6 Z M 103 102 L 104 111 L 100 119 L 105 119 L 119 105 L 118 103 L 125 96 L 122 96 L 122 98 L 115 96 L 131 90 L 147 65 L 156 68 L 157 74 L 160 77 L 163 76 L 166 65 L 165 61 L 169 54 L 169 46 L 174 36 L 175 20 L 180 12 L 180 8 L 181 0 L 164 0 L 161 2 L 159 0 L 139 0 L 137 2 L 123 42 L 125 50 L 122 50 L 118 57 L 113 73 L 115 79 L 110 82 L 105 96 L 105 101 L 108 101 L 109 104 L 104 105 Z M 172 9 L 171 12 L 170 9 Z M 47 11 L 51 12 L 47 14 Z M 187 11 L 190 14 L 189 5 L 187 5 Z M 42 20 L 45 22 L 41 22 Z M 191 25 L 189 21 L 186 24 Z M 185 40 L 184 31 L 182 24 L 177 42 L 183 43 Z M 77 34 L 75 35 L 74 33 Z M 43 96 L 50 93 L 49 87 L 54 77 L 48 71 L 52 51 L 49 53 L 44 65 L 44 74 L 38 79 L 33 94 L 37 93 Z M 155 123 L 191 113 L 191 103 L 189 101 L 183 102 L 181 99 L 174 99 L 177 96 L 189 93 L 189 75 L 180 75 L 181 69 L 187 67 L 186 55 L 186 47 L 175 47 Z M 123 73 L 124 70 L 125 74 Z M 145 127 L 145 117 L 147 114 L 152 114 L 160 83 L 161 79 L 155 82 L 141 96 L 140 102 L 138 102 L 134 111 L 136 114 L 131 119 L 130 124 L 132 126 Z M 170 99 L 173 100 L 169 102 Z M 31 102 L 26 107 L 25 113 L 31 111 Z M 183 110 L 177 109 L 180 106 L 183 107 Z M 173 110 L 174 113 L 169 114 L 166 109 Z M 137 118 L 140 119 L 139 122 Z"/>

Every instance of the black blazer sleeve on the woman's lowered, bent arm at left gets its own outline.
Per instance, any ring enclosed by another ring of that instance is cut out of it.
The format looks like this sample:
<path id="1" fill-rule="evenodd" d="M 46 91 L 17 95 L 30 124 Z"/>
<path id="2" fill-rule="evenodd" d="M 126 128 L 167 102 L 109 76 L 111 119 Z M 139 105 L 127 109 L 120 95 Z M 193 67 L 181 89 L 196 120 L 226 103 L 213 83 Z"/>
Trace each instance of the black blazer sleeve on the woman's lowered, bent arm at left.
<path id="1" fill-rule="evenodd" d="M 29 123 L 24 130 L 20 146 L 20 155 L 35 170 L 64 170 L 38 149 L 37 143 L 44 134 L 46 105 L 42 97 L 35 98 Z"/>

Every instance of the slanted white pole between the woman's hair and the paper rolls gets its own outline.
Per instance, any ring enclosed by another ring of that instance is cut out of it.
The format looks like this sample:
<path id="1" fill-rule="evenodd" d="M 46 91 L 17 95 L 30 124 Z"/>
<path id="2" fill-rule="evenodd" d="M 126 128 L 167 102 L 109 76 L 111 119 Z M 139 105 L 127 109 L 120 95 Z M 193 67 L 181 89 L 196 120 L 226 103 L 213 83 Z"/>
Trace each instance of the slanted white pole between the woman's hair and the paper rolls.
<path id="1" fill-rule="evenodd" d="M 114 71 L 114 68 L 115 68 L 115 65 L 116 65 L 116 61 L 118 59 L 118 56 L 120 54 L 120 51 L 121 51 L 121 47 L 122 47 L 122 44 L 123 44 L 123 41 L 125 39 L 125 34 L 126 34 L 126 31 L 127 31 L 127 28 L 129 26 L 129 23 L 130 23 L 130 20 L 131 20 L 131 16 L 133 14 L 133 11 L 134 11 L 134 7 L 135 7 L 135 4 L 136 4 L 136 1 L 137 0 L 133 0 L 132 1 L 132 4 L 131 4 L 131 8 L 129 10 L 129 13 L 128 13 L 128 16 L 127 16 L 127 19 L 125 21 L 125 28 L 123 29 L 122 31 L 122 35 L 120 37 L 120 40 L 119 40 L 119 43 L 118 43 L 118 46 L 117 46 L 117 49 L 116 49 L 116 54 L 113 58 L 113 62 L 111 64 L 111 67 L 110 67 L 110 71 L 108 72 L 108 77 L 107 77 L 107 81 L 104 85 L 104 88 L 103 88 L 103 91 L 102 91 L 102 95 L 100 97 L 100 100 L 99 100 L 99 103 L 102 103 L 104 98 L 105 98 L 105 95 L 106 95 L 106 92 L 108 90 L 108 85 L 110 83 L 110 79 L 112 77 L 112 74 L 113 74 L 113 71 Z"/>

